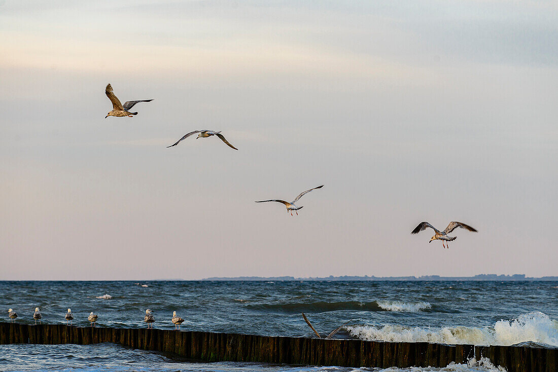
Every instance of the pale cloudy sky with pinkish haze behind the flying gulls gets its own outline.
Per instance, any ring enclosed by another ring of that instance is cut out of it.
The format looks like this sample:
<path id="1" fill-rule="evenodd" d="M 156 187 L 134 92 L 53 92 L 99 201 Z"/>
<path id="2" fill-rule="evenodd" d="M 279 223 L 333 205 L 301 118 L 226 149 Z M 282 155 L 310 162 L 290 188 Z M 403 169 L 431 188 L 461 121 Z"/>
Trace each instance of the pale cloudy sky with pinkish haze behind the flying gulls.
<path id="1" fill-rule="evenodd" d="M 0 33 L 0 279 L 558 275 L 556 2 L 0 0 Z M 154 100 L 105 119 L 108 83 Z M 239 151 L 166 148 L 200 129 Z"/>

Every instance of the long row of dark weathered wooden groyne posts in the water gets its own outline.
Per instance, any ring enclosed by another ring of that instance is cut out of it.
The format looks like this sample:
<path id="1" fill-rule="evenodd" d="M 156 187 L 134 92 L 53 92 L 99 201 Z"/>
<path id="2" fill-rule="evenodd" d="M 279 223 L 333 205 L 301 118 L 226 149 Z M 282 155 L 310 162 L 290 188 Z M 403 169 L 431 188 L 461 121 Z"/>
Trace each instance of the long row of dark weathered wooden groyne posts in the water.
<path id="1" fill-rule="evenodd" d="M 116 342 L 136 349 L 170 352 L 199 361 L 238 361 L 347 367 L 445 367 L 488 357 L 509 372 L 556 372 L 558 349 L 526 346 L 442 345 L 428 342 L 325 340 L 303 337 L 0 323 L 0 344 Z"/>

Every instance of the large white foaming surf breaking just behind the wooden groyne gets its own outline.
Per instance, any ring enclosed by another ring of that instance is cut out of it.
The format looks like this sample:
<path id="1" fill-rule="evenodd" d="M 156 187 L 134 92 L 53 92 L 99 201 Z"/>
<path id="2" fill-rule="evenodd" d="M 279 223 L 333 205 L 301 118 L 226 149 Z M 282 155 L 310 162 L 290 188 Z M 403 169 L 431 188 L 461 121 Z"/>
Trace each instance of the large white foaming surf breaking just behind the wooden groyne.
<path id="1" fill-rule="evenodd" d="M 558 346 L 558 320 L 542 312 L 522 314 L 511 321 L 500 320 L 493 327 L 421 328 L 387 325 L 350 326 L 351 335 L 363 340 L 398 342 L 439 342 L 442 344 L 513 345 L 539 342 Z"/>

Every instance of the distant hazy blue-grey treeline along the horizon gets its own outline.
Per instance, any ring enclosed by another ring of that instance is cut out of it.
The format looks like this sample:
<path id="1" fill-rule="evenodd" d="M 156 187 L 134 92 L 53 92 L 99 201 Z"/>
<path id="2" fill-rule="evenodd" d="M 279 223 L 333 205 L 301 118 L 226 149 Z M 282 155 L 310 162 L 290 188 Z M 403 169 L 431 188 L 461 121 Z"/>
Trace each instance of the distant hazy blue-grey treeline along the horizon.
<path id="1" fill-rule="evenodd" d="M 422 277 L 374 277 L 374 276 L 341 276 L 323 278 L 295 278 L 295 277 L 213 277 L 201 279 L 203 281 L 558 281 L 558 277 L 526 277 L 525 274 L 496 275 L 479 274 L 474 277 L 441 277 L 439 275 L 426 275 Z"/>

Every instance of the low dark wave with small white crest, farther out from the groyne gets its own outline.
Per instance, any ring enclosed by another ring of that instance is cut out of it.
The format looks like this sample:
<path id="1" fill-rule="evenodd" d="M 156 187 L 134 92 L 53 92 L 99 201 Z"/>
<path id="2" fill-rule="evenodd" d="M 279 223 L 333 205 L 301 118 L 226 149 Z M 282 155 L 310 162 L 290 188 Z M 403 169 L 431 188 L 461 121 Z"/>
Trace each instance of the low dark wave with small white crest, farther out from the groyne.
<path id="1" fill-rule="evenodd" d="M 247 305 L 247 308 L 263 311 L 277 312 L 326 312 L 339 310 L 360 311 L 430 311 L 432 305 L 428 302 L 402 302 L 402 301 L 339 301 L 339 302 L 291 302 L 261 305 Z"/>

